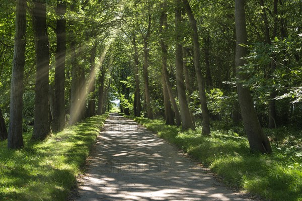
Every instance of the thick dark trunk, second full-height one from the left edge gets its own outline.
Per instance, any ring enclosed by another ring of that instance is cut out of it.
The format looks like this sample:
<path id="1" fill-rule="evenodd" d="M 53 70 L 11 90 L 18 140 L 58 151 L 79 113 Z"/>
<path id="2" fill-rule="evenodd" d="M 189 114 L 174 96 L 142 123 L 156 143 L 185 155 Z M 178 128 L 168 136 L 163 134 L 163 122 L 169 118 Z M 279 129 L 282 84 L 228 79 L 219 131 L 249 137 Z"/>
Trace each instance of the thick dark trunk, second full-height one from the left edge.
<path id="1" fill-rule="evenodd" d="M 49 122 L 49 41 L 46 27 L 46 3 L 34 1 L 33 28 L 36 50 L 34 131 L 32 140 L 44 140 L 51 134 Z"/>

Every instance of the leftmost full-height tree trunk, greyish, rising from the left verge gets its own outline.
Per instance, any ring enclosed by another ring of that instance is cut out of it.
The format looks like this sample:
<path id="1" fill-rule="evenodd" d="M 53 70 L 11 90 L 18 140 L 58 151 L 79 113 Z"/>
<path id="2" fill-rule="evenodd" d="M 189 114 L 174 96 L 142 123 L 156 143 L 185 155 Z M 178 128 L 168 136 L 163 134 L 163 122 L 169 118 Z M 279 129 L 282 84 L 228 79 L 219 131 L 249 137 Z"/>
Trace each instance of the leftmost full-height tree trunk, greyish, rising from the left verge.
<path id="1" fill-rule="evenodd" d="M 23 78 L 26 45 L 26 1 L 18 0 L 16 5 L 16 33 L 11 81 L 10 126 L 8 148 L 23 147 L 22 111 L 23 111 Z"/>

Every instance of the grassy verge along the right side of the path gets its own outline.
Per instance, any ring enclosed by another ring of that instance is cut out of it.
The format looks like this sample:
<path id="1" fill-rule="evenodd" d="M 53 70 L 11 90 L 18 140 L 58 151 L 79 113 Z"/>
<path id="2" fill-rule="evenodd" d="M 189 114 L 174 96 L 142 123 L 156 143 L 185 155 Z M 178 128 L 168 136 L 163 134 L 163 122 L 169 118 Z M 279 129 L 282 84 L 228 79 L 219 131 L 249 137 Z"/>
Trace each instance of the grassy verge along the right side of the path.
<path id="1" fill-rule="evenodd" d="M 130 118 L 174 143 L 228 185 L 269 200 L 302 200 L 301 131 L 294 146 L 273 145 L 273 154 L 261 155 L 250 153 L 247 139 L 234 132 L 212 131 L 211 136 L 202 136 L 200 128 L 182 132 L 160 120 Z"/>

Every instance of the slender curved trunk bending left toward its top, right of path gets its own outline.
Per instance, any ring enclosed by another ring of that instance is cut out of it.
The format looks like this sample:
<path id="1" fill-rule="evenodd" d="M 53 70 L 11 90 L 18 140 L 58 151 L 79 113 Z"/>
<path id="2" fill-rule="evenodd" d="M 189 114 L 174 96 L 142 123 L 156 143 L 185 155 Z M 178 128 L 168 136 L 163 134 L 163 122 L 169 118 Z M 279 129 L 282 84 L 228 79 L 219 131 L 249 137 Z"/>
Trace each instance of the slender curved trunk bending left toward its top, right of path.
<path id="1" fill-rule="evenodd" d="M 194 46 L 194 66 L 195 72 L 197 76 L 197 83 L 198 83 L 198 91 L 199 91 L 199 98 L 201 103 L 201 111 L 202 111 L 202 134 L 210 134 L 210 116 L 209 111 L 207 108 L 206 103 L 206 96 L 205 96 L 205 87 L 204 87 L 204 79 L 201 72 L 201 65 L 200 65 L 200 47 L 199 47 L 199 39 L 198 39 L 198 30 L 196 20 L 193 16 L 191 11 L 190 4 L 187 0 L 183 0 L 184 7 L 187 13 L 187 16 L 190 21 L 191 28 L 193 30 L 193 46 Z"/>

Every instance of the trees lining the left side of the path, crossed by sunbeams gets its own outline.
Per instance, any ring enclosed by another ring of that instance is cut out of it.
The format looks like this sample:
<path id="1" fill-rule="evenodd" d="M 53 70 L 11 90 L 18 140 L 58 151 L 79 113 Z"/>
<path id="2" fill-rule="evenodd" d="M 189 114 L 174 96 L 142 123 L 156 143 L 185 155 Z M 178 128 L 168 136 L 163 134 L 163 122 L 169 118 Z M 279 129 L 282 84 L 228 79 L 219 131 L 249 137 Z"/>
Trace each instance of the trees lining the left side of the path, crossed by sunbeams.
<path id="1" fill-rule="evenodd" d="M 44 140 L 61 131 L 67 121 L 72 125 L 103 114 L 108 102 L 104 98 L 108 91 L 105 73 L 111 60 L 108 41 L 116 23 L 117 3 L 18 0 L 16 5 L 11 1 L 3 4 L 8 13 L 16 8 L 14 40 L 8 24 L 14 18 L 3 24 L 7 30 L 2 29 L 2 43 L 8 47 L 2 51 L 2 61 L 10 60 L 13 53 L 12 70 L 9 62 L 2 66 L 11 75 L 2 75 L 1 81 L 6 84 L 3 91 L 10 94 L 9 104 L 2 103 L 10 109 L 6 111 L 8 132 L 1 114 L 1 139 L 8 138 L 8 148 L 24 146 L 22 135 L 28 125 L 33 125 L 32 140 Z M 14 48 L 7 45 L 13 42 Z M 98 98 L 98 111 L 97 92 L 102 97 Z M 32 96 L 26 100 L 26 95 Z"/>

